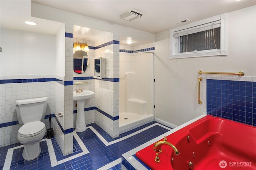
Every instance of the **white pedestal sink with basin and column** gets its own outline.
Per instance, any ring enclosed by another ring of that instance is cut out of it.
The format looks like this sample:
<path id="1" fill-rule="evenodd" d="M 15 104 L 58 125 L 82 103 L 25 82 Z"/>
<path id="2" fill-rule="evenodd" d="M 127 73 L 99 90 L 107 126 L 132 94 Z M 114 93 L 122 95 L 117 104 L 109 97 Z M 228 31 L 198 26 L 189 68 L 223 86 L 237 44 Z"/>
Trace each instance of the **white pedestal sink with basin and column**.
<path id="1" fill-rule="evenodd" d="M 77 104 L 76 113 L 76 131 L 83 132 L 86 130 L 85 115 L 84 115 L 84 102 L 94 96 L 94 92 L 90 90 L 83 90 L 83 92 L 74 92 L 74 100 Z"/>

